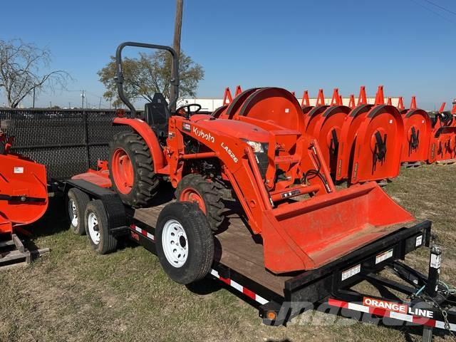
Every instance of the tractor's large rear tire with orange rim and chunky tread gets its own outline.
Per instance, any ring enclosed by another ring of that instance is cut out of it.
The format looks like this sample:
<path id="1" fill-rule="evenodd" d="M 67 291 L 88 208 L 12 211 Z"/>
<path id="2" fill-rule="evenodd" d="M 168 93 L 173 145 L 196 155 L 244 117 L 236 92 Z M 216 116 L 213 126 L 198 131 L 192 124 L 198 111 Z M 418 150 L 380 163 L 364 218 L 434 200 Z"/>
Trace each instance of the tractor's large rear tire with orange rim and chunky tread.
<path id="1" fill-rule="evenodd" d="M 149 147 L 138 133 L 114 136 L 108 167 L 112 187 L 123 203 L 135 208 L 150 206 L 160 180 L 155 175 Z"/>

